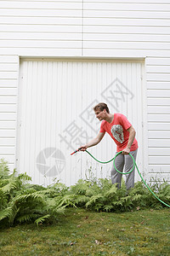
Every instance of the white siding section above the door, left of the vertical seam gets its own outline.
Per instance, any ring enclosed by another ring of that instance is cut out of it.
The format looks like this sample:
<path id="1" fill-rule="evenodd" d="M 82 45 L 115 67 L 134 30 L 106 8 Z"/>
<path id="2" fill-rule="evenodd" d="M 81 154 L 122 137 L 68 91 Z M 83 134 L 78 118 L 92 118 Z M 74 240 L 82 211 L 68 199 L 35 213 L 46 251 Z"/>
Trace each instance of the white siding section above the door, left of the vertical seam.
<path id="1" fill-rule="evenodd" d="M 0 50 L 82 55 L 82 1 L 0 1 Z"/>

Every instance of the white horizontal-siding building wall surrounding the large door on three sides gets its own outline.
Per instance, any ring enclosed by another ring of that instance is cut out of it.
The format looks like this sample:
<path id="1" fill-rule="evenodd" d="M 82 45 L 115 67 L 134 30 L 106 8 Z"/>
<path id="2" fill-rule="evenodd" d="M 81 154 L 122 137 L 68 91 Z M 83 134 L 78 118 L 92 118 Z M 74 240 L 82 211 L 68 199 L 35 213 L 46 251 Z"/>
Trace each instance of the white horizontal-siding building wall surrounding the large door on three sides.
<path id="1" fill-rule="evenodd" d="M 18 56 L 144 58 L 144 158 L 170 180 L 169 10 L 169 0 L 1 1 L 1 157 L 14 164 Z"/>

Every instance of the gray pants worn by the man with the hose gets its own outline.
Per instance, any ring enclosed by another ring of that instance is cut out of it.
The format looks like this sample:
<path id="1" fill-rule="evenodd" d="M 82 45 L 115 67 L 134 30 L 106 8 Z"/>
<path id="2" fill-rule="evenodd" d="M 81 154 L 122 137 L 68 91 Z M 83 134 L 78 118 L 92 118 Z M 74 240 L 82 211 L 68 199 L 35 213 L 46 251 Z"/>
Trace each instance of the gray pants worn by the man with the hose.
<path id="1" fill-rule="evenodd" d="M 138 151 L 138 149 L 130 152 L 130 154 L 132 154 L 134 160 L 136 160 L 137 151 Z M 124 172 L 131 171 L 133 168 L 132 157 L 129 154 L 118 154 L 116 156 L 115 166 L 116 166 L 116 169 L 120 172 L 123 171 L 123 167 L 124 167 Z M 116 169 L 114 166 L 111 169 L 111 183 L 113 183 L 113 184 L 117 183 L 117 187 L 120 188 L 122 174 L 119 172 L 116 172 Z M 134 186 L 134 170 L 133 170 L 133 172 L 131 172 L 129 174 L 125 174 L 125 176 L 126 176 L 127 189 L 133 188 L 133 186 Z"/>

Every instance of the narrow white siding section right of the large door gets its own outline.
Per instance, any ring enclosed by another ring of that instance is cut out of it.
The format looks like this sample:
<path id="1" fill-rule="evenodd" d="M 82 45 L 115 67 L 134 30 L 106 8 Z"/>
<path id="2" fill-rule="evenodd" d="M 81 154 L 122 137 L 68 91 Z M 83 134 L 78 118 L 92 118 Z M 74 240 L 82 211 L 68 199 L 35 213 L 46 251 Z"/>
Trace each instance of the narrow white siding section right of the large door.
<path id="1" fill-rule="evenodd" d="M 146 59 L 149 177 L 170 181 L 170 58 Z"/>

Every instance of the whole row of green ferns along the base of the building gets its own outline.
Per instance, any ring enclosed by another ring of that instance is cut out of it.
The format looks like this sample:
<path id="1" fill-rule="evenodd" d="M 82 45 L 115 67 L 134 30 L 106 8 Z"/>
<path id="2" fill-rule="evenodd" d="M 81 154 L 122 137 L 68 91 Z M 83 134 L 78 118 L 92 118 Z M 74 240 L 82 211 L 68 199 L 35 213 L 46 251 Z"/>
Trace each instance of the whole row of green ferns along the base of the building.
<path id="1" fill-rule="evenodd" d="M 31 177 L 14 170 L 9 173 L 8 164 L 0 163 L 0 225 L 12 225 L 23 222 L 54 223 L 65 207 L 84 207 L 93 211 L 125 212 L 142 207 L 165 207 L 144 186 L 137 182 L 127 192 L 122 179 L 121 189 L 110 179 L 91 176 L 80 179 L 71 186 L 53 183 L 47 188 L 30 184 Z M 170 204 L 170 185 L 155 183 L 151 189 L 161 201 Z"/>

